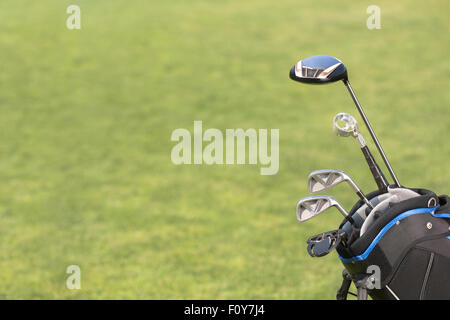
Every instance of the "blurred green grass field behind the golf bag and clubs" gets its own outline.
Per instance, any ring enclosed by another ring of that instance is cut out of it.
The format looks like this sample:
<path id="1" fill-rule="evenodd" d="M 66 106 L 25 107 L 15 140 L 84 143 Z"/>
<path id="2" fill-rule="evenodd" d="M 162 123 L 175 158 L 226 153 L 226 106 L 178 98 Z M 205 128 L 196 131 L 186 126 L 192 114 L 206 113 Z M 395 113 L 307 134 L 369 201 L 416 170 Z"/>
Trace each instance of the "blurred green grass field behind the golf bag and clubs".
<path id="1" fill-rule="evenodd" d="M 81 30 L 65 26 L 70 4 Z M 366 28 L 371 4 L 381 30 Z M 312 259 L 305 241 L 341 217 L 300 225 L 295 204 L 314 169 L 376 186 L 355 142 L 331 130 L 337 112 L 357 116 L 345 87 L 300 85 L 289 69 L 313 54 L 344 61 L 400 181 L 448 193 L 449 10 L 444 0 L 1 1 L 0 298 L 334 299 L 336 253 Z M 279 129 L 278 174 L 175 166 L 171 133 L 194 120 Z M 356 201 L 346 186 L 330 194 Z M 72 264 L 81 290 L 65 287 Z"/>

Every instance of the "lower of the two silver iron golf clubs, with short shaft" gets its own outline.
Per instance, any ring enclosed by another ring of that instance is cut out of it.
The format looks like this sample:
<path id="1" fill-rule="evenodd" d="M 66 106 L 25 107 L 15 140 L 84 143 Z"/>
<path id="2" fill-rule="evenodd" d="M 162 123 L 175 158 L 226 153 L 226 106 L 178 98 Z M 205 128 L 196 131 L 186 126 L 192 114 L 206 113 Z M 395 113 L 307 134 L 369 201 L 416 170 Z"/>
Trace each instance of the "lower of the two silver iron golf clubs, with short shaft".
<path id="1" fill-rule="evenodd" d="M 354 223 L 348 212 L 331 196 L 310 196 L 300 199 L 297 203 L 297 219 L 300 222 L 304 222 L 331 207 L 336 207 L 350 223 Z"/>

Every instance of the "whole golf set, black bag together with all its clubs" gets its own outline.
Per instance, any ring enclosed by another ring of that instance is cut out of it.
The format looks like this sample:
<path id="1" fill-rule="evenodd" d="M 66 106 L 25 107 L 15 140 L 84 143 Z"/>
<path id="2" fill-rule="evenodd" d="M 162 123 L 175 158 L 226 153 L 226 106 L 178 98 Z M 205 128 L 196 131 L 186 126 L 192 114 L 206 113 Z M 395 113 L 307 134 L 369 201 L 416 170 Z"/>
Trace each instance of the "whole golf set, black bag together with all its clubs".
<path id="1" fill-rule="evenodd" d="M 365 194 L 344 171 L 317 170 L 308 177 L 311 194 L 345 182 L 359 197 L 347 211 L 335 198 L 312 195 L 297 203 L 297 219 L 305 222 L 336 208 L 344 220 L 336 230 L 307 240 L 312 257 L 322 257 L 336 249 L 344 265 L 342 285 L 336 298 L 347 299 L 352 283 L 358 300 L 450 299 L 450 200 L 426 189 L 402 186 L 384 153 L 367 116 L 348 80 L 347 68 L 338 59 L 316 55 L 300 60 L 289 74 L 307 84 L 343 81 L 393 180 L 389 184 L 360 133 L 356 119 L 339 113 L 333 130 L 339 137 L 357 141 L 377 185 Z M 376 272 L 378 270 L 378 272 Z"/>

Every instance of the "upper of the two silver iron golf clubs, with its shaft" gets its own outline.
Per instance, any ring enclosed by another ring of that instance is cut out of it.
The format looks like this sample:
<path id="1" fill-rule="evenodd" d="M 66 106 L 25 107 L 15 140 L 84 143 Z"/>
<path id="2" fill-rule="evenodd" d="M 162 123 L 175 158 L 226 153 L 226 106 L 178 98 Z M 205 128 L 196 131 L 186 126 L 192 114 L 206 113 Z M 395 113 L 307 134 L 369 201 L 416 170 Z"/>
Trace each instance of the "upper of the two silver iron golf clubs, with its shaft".
<path id="1" fill-rule="evenodd" d="M 352 178 L 342 170 L 325 169 L 311 172 L 308 176 L 308 189 L 310 193 L 317 193 L 334 187 L 344 181 L 352 187 L 358 197 L 363 200 L 370 209 L 373 209 L 373 205 L 361 189 L 356 185 Z"/>

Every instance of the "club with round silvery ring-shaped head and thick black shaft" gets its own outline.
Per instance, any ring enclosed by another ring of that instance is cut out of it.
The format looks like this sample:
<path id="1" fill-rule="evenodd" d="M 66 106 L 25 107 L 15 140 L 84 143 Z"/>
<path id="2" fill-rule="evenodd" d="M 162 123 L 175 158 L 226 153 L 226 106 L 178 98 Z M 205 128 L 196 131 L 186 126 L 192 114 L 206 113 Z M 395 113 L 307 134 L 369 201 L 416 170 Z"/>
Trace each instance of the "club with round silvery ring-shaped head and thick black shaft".
<path id="1" fill-rule="evenodd" d="M 381 192 L 386 192 L 389 186 L 386 177 L 381 171 L 380 167 L 376 163 L 369 147 L 366 145 L 366 141 L 358 130 L 358 124 L 356 119 L 348 113 L 338 113 L 333 119 L 333 131 L 339 137 L 349 137 L 352 136 L 358 140 L 361 145 L 361 151 L 366 158 L 367 164 L 369 165 L 370 171 L 375 179 L 375 183 Z"/>

